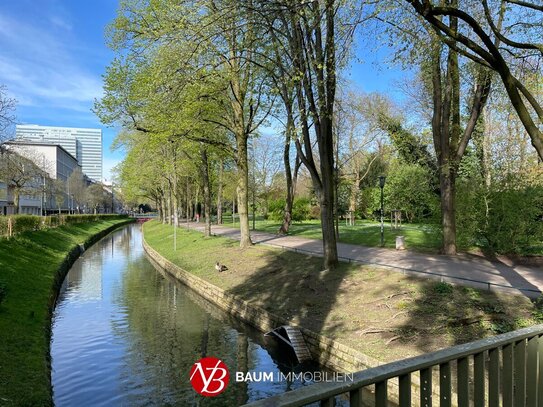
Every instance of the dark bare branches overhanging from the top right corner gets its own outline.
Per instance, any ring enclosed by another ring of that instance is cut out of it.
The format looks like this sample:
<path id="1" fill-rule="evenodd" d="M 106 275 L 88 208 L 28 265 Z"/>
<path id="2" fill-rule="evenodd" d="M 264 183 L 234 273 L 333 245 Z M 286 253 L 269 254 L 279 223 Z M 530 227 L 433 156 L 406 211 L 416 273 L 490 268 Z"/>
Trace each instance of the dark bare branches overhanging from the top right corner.
<path id="1" fill-rule="evenodd" d="M 481 0 L 480 5 L 471 1 L 447 1 L 445 4 L 434 4 L 431 0 L 406 1 L 453 52 L 498 74 L 533 147 L 543 160 L 543 133 L 540 130 L 543 107 L 528 83 L 519 80 L 514 73 L 515 66 L 520 63 L 523 70 L 535 70 L 541 77 L 534 62 L 541 60 L 543 45 L 534 42 L 533 38 L 539 39 L 536 33 L 541 29 L 543 6 L 520 0 Z M 450 23 L 447 24 L 443 17 L 448 17 Z"/>

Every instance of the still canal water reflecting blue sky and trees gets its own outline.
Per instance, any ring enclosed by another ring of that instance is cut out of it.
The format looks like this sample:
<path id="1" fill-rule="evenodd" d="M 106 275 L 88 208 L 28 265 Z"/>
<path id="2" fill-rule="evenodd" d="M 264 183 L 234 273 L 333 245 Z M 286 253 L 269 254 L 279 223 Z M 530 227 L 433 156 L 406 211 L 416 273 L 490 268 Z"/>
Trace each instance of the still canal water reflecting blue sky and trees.
<path id="1" fill-rule="evenodd" d="M 157 271 L 139 225 L 107 236 L 68 273 L 53 317 L 52 381 L 57 406 L 238 406 L 308 383 L 236 383 L 201 397 L 189 383 L 202 356 L 230 372 L 320 371 L 290 349 L 228 317 Z"/>

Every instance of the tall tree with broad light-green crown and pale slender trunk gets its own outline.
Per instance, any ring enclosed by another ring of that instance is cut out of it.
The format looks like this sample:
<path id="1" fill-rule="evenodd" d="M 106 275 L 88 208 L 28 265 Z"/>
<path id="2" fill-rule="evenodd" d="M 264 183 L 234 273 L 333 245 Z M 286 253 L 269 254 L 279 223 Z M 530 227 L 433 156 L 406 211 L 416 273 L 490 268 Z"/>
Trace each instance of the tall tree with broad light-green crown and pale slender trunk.
<path id="1" fill-rule="evenodd" d="M 234 0 L 130 0 L 112 27 L 122 61 L 106 76 L 106 95 L 97 106 L 102 119 L 124 117 L 139 131 L 232 153 L 239 172 L 240 245 L 250 245 L 247 140 L 264 120 L 268 98 L 265 78 L 249 63 L 259 46 L 250 8 Z M 218 140 L 217 131 L 197 131 L 202 122 L 225 129 L 232 143 Z"/>

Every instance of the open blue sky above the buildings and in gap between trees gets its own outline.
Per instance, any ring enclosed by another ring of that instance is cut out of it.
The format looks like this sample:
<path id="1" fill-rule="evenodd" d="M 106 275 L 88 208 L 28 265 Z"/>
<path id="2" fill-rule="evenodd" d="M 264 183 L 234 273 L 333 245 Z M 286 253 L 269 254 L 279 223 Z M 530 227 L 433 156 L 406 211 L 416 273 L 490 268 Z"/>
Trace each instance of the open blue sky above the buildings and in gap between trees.
<path id="1" fill-rule="evenodd" d="M 123 159 L 111 151 L 118 129 L 91 111 L 113 59 L 105 29 L 116 0 L 17 0 L 0 8 L 0 85 L 17 100 L 17 122 L 103 130 L 103 174 Z M 378 62 L 382 52 L 357 49 L 346 78 L 365 92 L 394 94 L 404 74 Z"/>

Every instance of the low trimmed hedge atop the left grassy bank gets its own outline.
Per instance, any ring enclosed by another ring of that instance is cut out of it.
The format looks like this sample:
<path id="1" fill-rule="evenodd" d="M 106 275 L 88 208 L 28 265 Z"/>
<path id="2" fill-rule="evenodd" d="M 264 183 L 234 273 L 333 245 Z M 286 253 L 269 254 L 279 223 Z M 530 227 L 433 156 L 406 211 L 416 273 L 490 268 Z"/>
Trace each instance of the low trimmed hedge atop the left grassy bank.
<path id="1" fill-rule="evenodd" d="M 0 236 L 9 237 L 9 224 L 11 223 L 11 235 L 27 231 L 55 228 L 60 225 L 74 223 L 96 222 L 102 219 L 124 219 L 128 215 L 97 214 L 97 215 L 9 215 L 0 216 Z"/>

